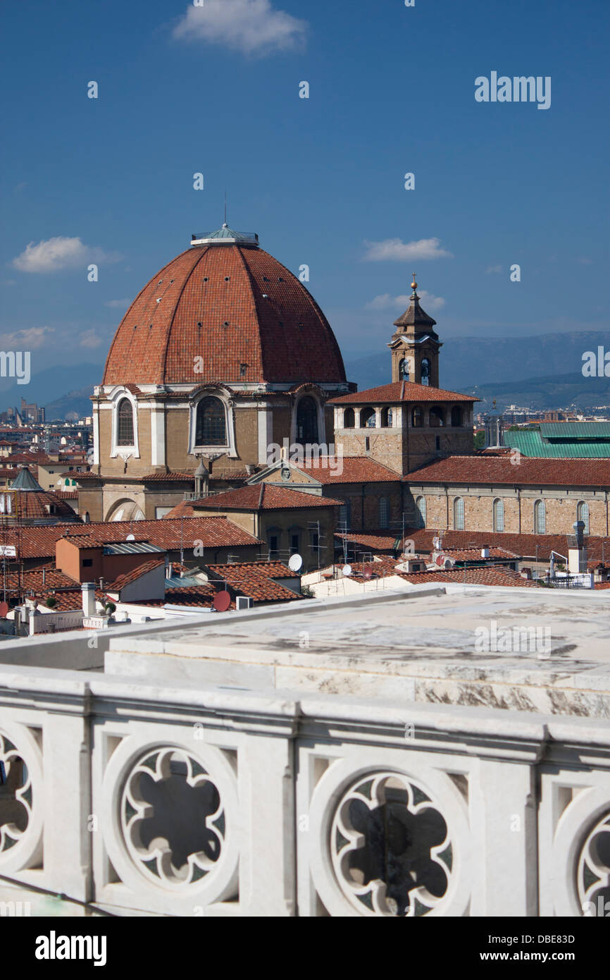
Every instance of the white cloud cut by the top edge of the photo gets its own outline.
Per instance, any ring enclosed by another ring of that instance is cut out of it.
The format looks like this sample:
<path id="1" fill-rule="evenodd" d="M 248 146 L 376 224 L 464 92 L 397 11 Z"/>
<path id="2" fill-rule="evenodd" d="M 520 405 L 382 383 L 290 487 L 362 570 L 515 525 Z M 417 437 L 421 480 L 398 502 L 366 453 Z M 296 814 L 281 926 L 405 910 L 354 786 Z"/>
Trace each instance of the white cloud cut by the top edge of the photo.
<path id="1" fill-rule="evenodd" d="M 303 47 L 306 29 L 305 21 L 274 10 L 269 0 L 205 0 L 203 7 L 187 7 L 173 36 L 262 56 Z"/>

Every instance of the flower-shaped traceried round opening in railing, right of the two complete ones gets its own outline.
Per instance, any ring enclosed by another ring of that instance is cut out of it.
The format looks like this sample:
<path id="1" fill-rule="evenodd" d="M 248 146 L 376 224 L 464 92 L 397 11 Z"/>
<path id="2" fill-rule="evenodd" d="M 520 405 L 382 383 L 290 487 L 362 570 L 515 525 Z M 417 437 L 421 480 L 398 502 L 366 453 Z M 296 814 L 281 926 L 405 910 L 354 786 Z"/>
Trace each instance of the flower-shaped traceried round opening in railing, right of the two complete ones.
<path id="1" fill-rule="evenodd" d="M 362 915 L 426 915 L 446 895 L 453 854 L 446 819 L 400 772 L 360 777 L 331 824 L 337 881 Z"/>

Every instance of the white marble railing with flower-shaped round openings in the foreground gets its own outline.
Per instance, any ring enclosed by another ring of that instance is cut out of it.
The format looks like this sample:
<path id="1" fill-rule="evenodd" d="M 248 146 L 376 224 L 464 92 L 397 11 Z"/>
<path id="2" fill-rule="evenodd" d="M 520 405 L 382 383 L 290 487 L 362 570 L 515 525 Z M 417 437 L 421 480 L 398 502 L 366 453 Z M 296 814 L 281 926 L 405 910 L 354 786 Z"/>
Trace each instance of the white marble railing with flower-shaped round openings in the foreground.
<path id="1" fill-rule="evenodd" d="M 579 916 L 608 897 L 604 721 L 2 665 L 0 760 L 0 875 L 23 882 L 0 901 L 32 914 L 27 885 L 119 915 Z"/>

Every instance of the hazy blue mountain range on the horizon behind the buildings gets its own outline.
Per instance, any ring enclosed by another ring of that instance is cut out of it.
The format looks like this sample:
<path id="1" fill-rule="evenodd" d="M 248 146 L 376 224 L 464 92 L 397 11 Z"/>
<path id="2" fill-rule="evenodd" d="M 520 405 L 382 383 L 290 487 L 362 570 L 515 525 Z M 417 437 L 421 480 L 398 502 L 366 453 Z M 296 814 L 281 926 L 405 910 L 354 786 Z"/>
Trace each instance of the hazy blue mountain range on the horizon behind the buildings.
<path id="1" fill-rule="evenodd" d="M 610 378 L 582 374 L 583 354 L 603 347 L 610 351 L 610 330 L 574 330 L 534 337 L 454 337 L 441 350 L 441 385 L 482 399 L 478 410 L 506 405 L 552 409 L 577 405 L 590 408 L 610 404 Z M 346 370 L 358 389 L 390 380 L 390 352 L 375 351 L 346 361 Z M 0 379 L 0 404 L 21 404 L 22 397 L 46 408 L 47 418 L 91 414 L 89 396 L 99 384 L 103 365 L 47 368 L 34 374 L 28 385 L 13 378 Z"/>

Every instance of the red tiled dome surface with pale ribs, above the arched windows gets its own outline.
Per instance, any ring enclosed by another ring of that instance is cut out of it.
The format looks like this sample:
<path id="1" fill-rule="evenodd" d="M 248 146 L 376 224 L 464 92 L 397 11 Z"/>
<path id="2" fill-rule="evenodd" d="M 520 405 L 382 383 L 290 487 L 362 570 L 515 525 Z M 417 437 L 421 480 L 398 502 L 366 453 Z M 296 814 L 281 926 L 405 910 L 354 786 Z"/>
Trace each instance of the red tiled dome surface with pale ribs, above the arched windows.
<path id="1" fill-rule="evenodd" d="M 215 242 L 191 246 L 142 289 L 103 384 L 345 380 L 330 324 L 303 283 L 252 242 Z"/>

